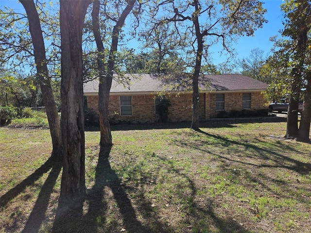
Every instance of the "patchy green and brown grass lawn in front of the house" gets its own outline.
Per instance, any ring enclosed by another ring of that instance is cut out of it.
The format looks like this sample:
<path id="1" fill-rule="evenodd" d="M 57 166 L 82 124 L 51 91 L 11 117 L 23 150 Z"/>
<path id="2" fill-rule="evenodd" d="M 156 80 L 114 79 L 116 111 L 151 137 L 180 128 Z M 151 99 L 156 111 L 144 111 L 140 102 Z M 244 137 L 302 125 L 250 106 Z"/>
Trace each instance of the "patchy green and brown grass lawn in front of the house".
<path id="1" fill-rule="evenodd" d="M 115 126 L 101 151 L 86 131 L 87 196 L 68 213 L 49 130 L 0 128 L 0 232 L 311 232 L 311 144 L 283 140 L 286 122 L 189 125 Z"/>

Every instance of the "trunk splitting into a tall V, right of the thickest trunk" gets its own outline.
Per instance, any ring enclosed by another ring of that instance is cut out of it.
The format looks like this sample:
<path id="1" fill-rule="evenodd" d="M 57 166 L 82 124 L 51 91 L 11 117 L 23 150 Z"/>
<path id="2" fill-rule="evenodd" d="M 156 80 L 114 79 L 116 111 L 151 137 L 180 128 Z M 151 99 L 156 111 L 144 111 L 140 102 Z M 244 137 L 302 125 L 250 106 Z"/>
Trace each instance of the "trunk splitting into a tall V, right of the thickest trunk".
<path id="1" fill-rule="evenodd" d="M 119 20 L 116 22 L 116 25 L 113 27 L 112 31 L 112 41 L 108 57 L 108 67 L 105 70 L 104 67 L 104 46 L 102 42 L 102 37 L 99 28 L 99 8 L 100 2 L 95 0 L 93 3 L 92 11 L 92 20 L 93 20 L 93 33 L 98 50 L 98 69 L 99 69 L 99 90 L 98 90 L 98 110 L 99 110 L 99 119 L 101 126 L 101 140 L 100 145 L 102 147 L 111 147 L 112 146 L 112 136 L 109 123 L 109 93 L 111 88 L 111 83 L 113 79 L 113 69 L 115 66 L 116 52 L 118 50 L 119 34 L 120 30 L 123 27 L 125 18 L 133 9 L 136 0 L 129 0 L 127 6 L 123 10 Z"/>

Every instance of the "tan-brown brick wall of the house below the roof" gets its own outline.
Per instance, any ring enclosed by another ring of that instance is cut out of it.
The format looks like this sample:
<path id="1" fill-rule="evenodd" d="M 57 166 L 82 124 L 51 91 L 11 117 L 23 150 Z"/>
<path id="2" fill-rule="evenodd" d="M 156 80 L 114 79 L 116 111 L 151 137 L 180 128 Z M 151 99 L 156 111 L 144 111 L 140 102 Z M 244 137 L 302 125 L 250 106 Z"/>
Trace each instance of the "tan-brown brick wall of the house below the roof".
<path id="1" fill-rule="evenodd" d="M 158 122 L 159 116 L 155 115 L 155 95 L 132 96 L 133 116 L 121 116 L 120 96 L 110 96 L 109 114 L 112 122 L 148 123 Z M 169 121 L 191 121 L 192 119 L 192 94 L 180 94 L 178 97 L 167 97 L 172 106 L 169 107 Z M 199 116 L 201 120 L 216 117 L 214 93 L 201 93 L 199 98 Z M 264 108 L 265 100 L 258 93 L 252 93 L 251 108 Z M 87 107 L 98 112 L 98 96 L 87 96 Z M 242 109 L 242 93 L 225 93 L 225 111 Z M 118 114 L 114 114 L 118 113 Z"/>

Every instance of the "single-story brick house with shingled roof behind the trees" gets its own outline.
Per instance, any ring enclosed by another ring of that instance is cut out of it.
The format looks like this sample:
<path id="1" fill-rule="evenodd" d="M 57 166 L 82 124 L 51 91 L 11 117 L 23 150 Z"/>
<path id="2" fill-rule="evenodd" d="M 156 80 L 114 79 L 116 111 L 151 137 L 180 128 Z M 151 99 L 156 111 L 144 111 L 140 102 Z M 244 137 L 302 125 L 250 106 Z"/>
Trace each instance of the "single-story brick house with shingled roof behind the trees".
<path id="1" fill-rule="evenodd" d="M 129 77 L 129 76 L 127 76 Z M 158 122 L 156 96 L 163 91 L 164 83 L 156 74 L 131 74 L 130 85 L 113 81 L 110 90 L 109 114 L 111 122 Z M 266 101 L 261 92 L 266 83 L 242 74 L 205 75 L 200 84 L 200 120 L 217 117 L 222 111 L 263 109 Z M 87 107 L 98 112 L 98 80 L 84 84 Z M 167 83 L 166 83 L 167 84 Z M 168 118 L 171 122 L 190 121 L 192 118 L 192 93 L 186 89 L 166 95 L 171 101 Z"/>

